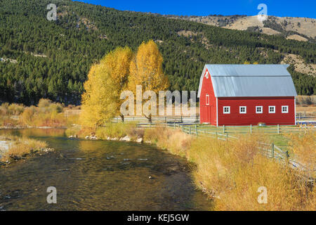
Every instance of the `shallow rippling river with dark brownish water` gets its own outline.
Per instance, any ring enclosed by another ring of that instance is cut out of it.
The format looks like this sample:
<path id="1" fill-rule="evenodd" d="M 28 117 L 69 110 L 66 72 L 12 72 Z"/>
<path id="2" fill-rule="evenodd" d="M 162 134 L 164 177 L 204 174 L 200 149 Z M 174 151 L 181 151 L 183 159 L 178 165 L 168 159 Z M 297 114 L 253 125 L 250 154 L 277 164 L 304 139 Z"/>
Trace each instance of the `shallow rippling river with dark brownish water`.
<path id="1" fill-rule="evenodd" d="M 55 152 L 0 168 L 0 210 L 211 210 L 185 159 L 154 146 L 67 139 L 62 129 L 0 130 Z M 151 177 L 151 178 L 150 178 Z M 48 204 L 47 188 L 57 190 Z"/>

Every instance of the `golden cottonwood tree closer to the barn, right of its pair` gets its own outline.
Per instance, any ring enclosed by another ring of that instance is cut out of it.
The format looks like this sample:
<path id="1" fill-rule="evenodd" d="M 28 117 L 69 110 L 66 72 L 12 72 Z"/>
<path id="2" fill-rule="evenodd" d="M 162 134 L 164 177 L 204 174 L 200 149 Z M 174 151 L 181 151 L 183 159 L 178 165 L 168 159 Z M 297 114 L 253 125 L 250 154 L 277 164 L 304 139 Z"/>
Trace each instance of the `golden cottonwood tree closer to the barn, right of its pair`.
<path id="1" fill-rule="evenodd" d="M 154 41 L 143 42 L 131 60 L 129 75 L 129 90 L 136 94 L 136 86 L 140 85 L 143 91 L 164 91 L 169 86 L 169 80 L 162 70 L 162 54 Z M 143 101 L 144 102 L 144 101 Z M 151 120 L 151 115 L 145 115 Z"/>

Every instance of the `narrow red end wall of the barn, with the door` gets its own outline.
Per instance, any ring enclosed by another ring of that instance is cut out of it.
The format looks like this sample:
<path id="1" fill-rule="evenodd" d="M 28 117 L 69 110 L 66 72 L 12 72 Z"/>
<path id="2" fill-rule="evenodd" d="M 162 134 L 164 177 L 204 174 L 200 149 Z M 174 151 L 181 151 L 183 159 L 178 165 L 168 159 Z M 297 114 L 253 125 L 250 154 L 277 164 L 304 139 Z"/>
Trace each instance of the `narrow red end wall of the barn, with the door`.
<path id="1" fill-rule="evenodd" d="M 205 77 L 206 69 L 203 77 L 201 94 L 199 97 L 199 120 L 200 123 L 209 123 L 216 125 L 216 97 L 213 91 L 213 85 L 211 82 L 211 75 L 209 79 Z M 209 94 L 209 105 L 206 105 L 206 94 Z"/>

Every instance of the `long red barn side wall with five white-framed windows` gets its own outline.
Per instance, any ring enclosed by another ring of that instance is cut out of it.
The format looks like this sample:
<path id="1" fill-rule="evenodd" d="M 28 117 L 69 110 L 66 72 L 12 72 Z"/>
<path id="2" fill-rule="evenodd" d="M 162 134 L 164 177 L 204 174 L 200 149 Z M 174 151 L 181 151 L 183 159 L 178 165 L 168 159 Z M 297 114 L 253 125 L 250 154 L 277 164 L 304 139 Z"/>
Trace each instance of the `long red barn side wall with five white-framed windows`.
<path id="1" fill-rule="evenodd" d="M 232 97 L 218 98 L 218 125 L 249 125 L 264 122 L 295 124 L 294 97 Z M 263 106 L 263 113 L 256 113 L 256 106 Z M 269 113 L 269 105 L 275 105 L 275 113 Z M 289 105 L 289 113 L 282 113 L 282 105 Z M 223 106 L 230 106 L 230 114 L 223 114 Z M 246 106 L 246 114 L 239 113 L 239 106 Z"/>

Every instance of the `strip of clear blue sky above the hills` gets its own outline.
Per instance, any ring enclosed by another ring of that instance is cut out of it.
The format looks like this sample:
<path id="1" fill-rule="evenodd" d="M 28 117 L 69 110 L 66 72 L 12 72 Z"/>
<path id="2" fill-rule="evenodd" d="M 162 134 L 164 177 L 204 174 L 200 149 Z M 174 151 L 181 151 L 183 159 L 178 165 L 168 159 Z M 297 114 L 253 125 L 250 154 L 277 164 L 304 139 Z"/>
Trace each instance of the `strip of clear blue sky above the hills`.
<path id="1" fill-rule="evenodd" d="M 316 18 L 315 0 L 79 0 L 119 10 L 173 15 L 257 15 L 258 4 L 268 6 L 268 15 Z"/>

